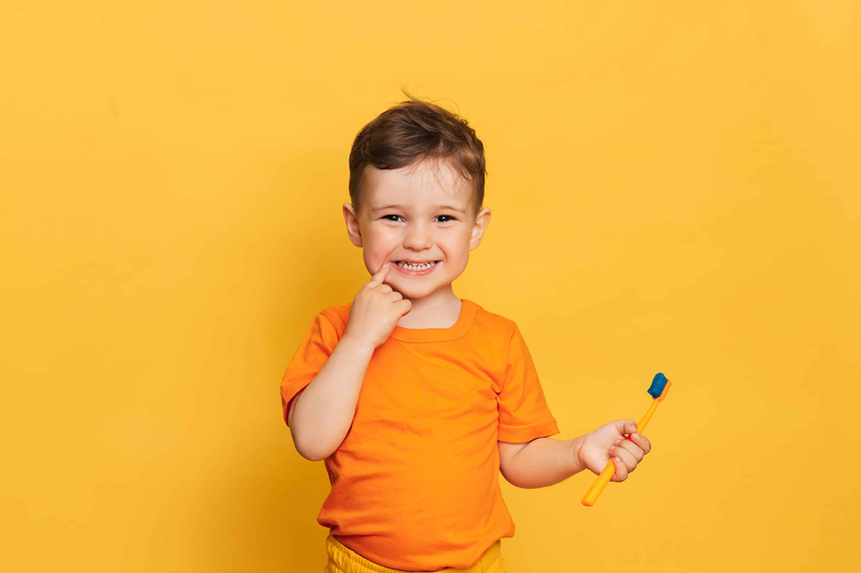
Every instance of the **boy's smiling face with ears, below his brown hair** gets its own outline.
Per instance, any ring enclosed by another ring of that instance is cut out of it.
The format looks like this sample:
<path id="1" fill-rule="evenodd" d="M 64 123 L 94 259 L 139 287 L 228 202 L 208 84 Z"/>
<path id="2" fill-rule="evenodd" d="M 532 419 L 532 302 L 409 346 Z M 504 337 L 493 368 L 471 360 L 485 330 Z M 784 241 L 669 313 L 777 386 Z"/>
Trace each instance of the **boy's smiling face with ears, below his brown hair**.
<path id="1" fill-rule="evenodd" d="M 473 219 L 471 183 L 443 161 L 438 169 L 436 162 L 365 169 L 362 211 L 356 216 L 352 204 L 344 203 L 344 219 L 369 273 L 388 262 L 392 268 L 384 282 L 408 299 L 449 286 L 479 246 L 490 209 Z M 416 274 L 400 266 L 404 261 L 436 263 Z"/>

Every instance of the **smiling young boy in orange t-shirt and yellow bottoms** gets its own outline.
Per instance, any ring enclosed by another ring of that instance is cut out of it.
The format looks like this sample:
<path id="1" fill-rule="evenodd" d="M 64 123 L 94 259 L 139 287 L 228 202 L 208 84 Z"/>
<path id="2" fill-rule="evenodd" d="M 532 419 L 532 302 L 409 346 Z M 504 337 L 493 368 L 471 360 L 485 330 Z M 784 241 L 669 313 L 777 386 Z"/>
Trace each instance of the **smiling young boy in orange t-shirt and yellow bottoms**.
<path id="1" fill-rule="evenodd" d="M 284 421 L 302 457 L 325 460 L 325 571 L 505 573 L 499 472 L 539 488 L 614 459 L 621 482 L 651 444 L 629 419 L 548 438 L 559 428 L 517 324 L 452 290 L 490 221 L 484 146 L 406 95 L 353 142 L 343 212 L 372 277 L 314 317 L 284 373 Z"/>

